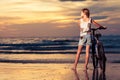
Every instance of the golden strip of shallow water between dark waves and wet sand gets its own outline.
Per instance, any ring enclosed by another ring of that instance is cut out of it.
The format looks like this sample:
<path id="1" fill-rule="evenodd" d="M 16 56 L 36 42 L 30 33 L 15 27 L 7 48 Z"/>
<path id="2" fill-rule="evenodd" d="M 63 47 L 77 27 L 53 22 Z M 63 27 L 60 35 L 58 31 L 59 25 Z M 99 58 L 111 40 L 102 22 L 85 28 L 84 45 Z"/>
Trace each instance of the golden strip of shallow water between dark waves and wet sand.
<path id="1" fill-rule="evenodd" d="M 120 54 L 105 54 L 107 63 L 120 63 Z M 76 54 L 0 54 L 2 63 L 74 63 Z M 81 54 L 79 63 L 84 63 L 85 54 Z M 90 56 L 89 63 L 92 63 Z"/>

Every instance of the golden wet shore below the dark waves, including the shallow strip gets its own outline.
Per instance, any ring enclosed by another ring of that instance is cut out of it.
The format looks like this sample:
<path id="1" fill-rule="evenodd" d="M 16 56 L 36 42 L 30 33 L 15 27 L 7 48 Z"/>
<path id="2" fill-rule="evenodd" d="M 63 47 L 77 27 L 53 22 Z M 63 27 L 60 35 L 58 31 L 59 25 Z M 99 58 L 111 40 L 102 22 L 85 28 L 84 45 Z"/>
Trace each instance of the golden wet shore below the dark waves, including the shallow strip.
<path id="1" fill-rule="evenodd" d="M 75 54 L 0 54 L 0 60 L 13 60 L 0 62 L 0 80 L 120 80 L 120 54 L 106 54 L 105 74 L 99 68 L 93 69 L 91 59 L 84 72 L 84 56 L 81 55 L 77 71 L 73 71 Z"/>

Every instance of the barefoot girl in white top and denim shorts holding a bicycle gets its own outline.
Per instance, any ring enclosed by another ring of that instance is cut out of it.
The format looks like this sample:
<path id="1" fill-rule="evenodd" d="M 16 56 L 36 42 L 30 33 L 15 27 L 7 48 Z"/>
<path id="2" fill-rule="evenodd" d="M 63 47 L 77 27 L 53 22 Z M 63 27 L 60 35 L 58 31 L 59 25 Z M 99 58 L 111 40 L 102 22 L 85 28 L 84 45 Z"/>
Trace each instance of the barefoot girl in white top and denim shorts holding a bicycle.
<path id="1" fill-rule="evenodd" d="M 76 69 L 80 54 L 83 48 L 83 45 L 86 45 L 86 58 L 85 58 L 85 70 L 87 70 L 87 65 L 89 61 L 89 51 L 90 51 L 90 45 L 91 45 L 91 23 L 99 28 L 104 28 L 94 20 L 90 18 L 90 12 L 87 8 L 84 8 L 81 10 L 81 19 L 79 20 L 79 26 L 80 26 L 80 40 L 78 43 L 78 50 L 76 54 L 76 59 L 74 63 L 73 70 Z"/>

